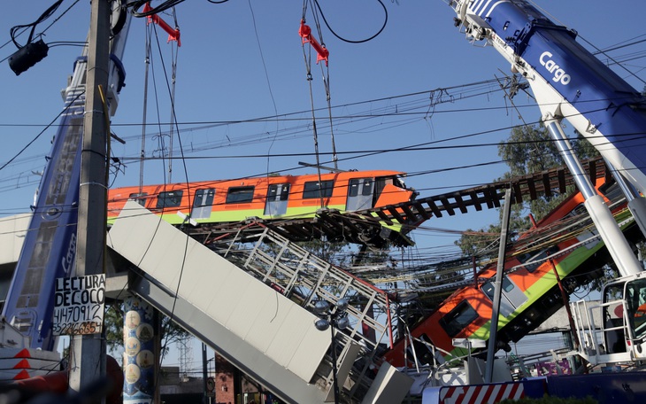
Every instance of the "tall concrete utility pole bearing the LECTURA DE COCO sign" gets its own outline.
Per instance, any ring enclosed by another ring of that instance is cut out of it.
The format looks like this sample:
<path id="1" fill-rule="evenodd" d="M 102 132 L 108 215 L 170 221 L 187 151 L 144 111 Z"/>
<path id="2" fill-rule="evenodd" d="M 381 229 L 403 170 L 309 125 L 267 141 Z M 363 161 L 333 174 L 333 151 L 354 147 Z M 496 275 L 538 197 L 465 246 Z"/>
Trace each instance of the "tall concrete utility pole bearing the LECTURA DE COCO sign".
<path id="1" fill-rule="evenodd" d="M 108 88 L 110 2 L 92 0 L 85 86 L 85 120 L 81 151 L 76 275 L 104 273 L 106 226 L 106 139 L 108 117 L 99 86 Z M 75 335 L 70 351 L 70 389 L 88 392 L 105 377 L 105 347 L 100 334 Z M 94 402 L 94 401 L 93 401 Z"/>

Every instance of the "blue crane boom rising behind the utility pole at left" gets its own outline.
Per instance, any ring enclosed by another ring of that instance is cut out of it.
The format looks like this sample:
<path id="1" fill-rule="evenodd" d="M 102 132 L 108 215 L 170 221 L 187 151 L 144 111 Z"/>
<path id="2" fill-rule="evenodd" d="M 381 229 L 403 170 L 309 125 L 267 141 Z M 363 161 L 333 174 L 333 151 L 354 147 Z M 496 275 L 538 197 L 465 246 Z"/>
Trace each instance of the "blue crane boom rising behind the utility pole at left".
<path id="1" fill-rule="evenodd" d="M 113 14 L 114 33 L 110 58 L 108 101 L 111 115 L 124 84 L 121 58 L 130 16 Z M 47 158 L 38 195 L 2 315 L 29 338 L 29 347 L 51 351 L 54 284 L 58 277 L 73 274 L 81 178 L 81 144 L 85 112 L 87 46 L 74 64 L 70 84 L 64 91 L 65 109 Z"/>

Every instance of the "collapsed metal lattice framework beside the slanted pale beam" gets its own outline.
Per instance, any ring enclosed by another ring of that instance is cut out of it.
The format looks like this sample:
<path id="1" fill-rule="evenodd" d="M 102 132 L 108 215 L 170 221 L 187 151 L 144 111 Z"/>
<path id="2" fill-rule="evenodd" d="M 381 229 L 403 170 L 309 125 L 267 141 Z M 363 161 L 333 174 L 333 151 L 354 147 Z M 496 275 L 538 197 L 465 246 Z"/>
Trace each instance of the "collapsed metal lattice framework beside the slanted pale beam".
<path id="1" fill-rule="evenodd" d="M 330 307 L 336 307 L 340 299 L 350 301 L 345 309 L 350 326 L 336 332 L 335 344 L 331 346 L 336 347 L 336 357 L 340 359 L 348 352 L 350 343 L 359 346 L 358 360 L 350 369 L 350 381 L 346 384 L 350 387 L 344 393 L 350 398 L 363 396 L 373 377 L 370 372 L 379 366 L 375 362 L 378 346 L 384 343 L 392 346 L 387 293 L 321 260 L 271 229 L 265 228 L 255 237 L 257 241 L 250 244 L 241 241 L 249 237 L 242 237 L 240 233 L 219 253 L 311 313 L 315 313 L 314 305 L 318 301 L 325 301 Z M 325 385 L 333 384 L 330 354 L 319 366 L 317 376 Z M 344 383 L 339 383 L 343 387 Z"/>

